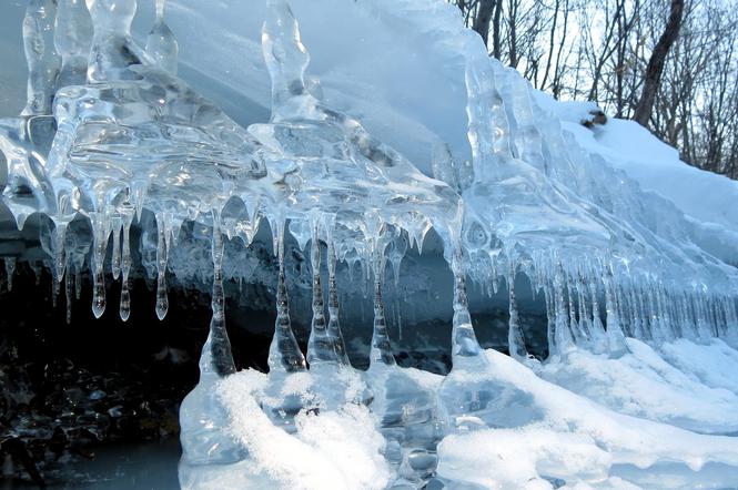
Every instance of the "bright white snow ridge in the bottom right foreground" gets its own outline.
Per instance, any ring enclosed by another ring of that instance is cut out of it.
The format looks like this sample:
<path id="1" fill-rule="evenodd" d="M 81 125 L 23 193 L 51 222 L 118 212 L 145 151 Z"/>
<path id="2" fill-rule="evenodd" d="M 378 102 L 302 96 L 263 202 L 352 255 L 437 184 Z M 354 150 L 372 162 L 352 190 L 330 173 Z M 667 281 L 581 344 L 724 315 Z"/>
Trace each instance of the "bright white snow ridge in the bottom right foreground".
<path id="1" fill-rule="evenodd" d="M 667 466 L 671 472 L 674 467 L 681 469 L 684 478 L 697 484 L 709 462 L 720 467 L 715 481 L 724 487 L 738 481 L 736 438 L 620 415 L 538 378 L 503 354 L 487 350 L 487 358 L 488 376 L 528 392 L 545 417 L 519 429 L 445 438 L 438 447 L 438 473 L 444 478 L 485 488 L 546 488 L 542 477 L 599 484 L 623 469 L 630 471 L 628 480 L 637 480 Z"/>

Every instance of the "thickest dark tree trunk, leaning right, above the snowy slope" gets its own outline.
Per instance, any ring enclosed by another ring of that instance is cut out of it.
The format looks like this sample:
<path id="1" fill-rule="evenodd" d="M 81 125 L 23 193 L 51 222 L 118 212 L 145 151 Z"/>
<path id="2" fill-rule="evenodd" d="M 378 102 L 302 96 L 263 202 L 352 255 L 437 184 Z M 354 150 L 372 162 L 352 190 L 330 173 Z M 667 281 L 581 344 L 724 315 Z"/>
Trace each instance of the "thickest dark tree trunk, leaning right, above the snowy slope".
<path id="1" fill-rule="evenodd" d="M 638 100 L 636 113 L 633 118 L 644 127 L 648 126 L 648 120 L 650 119 L 654 101 L 656 100 L 656 92 L 658 92 L 661 81 L 666 57 L 679 35 L 684 8 L 684 0 L 671 0 L 671 9 L 669 11 L 669 20 L 666 22 L 666 29 L 664 29 L 664 33 L 656 43 L 656 48 L 654 48 L 654 52 L 648 60 L 644 91 L 640 94 L 640 100 Z"/>

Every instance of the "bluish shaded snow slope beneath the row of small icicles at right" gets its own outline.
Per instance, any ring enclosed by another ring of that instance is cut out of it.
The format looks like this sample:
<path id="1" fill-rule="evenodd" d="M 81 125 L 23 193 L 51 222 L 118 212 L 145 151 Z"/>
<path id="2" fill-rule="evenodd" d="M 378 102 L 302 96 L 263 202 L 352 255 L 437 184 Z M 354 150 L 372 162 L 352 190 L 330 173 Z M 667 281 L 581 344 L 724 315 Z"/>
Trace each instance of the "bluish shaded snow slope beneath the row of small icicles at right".
<path id="1" fill-rule="evenodd" d="M 686 366 L 677 365 L 678 369 L 665 361 L 643 341 L 633 338 L 626 341 L 629 351 L 619 358 L 578 349 L 560 363 L 545 364 L 540 376 L 621 414 L 697 432 L 738 431 L 736 392 L 704 381 L 715 372 L 712 376 L 730 384 L 727 368 L 732 366 L 735 371 L 738 351 L 725 344 L 726 349 L 721 349 L 717 344 L 698 346 L 679 340 L 681 356 L 677 354 L 674 358 L 681 357 L 696 366 L 708 363 L 701 376 L 694 376 L 680 370 Z"/>

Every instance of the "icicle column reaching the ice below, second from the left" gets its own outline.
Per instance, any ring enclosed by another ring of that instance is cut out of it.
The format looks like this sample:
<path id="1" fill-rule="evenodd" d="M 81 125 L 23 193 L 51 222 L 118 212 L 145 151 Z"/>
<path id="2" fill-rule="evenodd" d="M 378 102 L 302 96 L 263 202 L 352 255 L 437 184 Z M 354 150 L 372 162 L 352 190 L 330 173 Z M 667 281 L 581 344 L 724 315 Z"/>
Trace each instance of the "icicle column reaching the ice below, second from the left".
<path id="1" fill-rule="evenodd" d="M 290 321 L 290 299 L 284 275 L 284 226 L 283 220 L 275 221 L 277 246 L 276 254 L 280 270 L 276 280 L 276 323 L 274 337 L 269 348 L 270 370 L 286 370 L 287 372 L 305 370 L 305 357 L 300 351 Z"/>

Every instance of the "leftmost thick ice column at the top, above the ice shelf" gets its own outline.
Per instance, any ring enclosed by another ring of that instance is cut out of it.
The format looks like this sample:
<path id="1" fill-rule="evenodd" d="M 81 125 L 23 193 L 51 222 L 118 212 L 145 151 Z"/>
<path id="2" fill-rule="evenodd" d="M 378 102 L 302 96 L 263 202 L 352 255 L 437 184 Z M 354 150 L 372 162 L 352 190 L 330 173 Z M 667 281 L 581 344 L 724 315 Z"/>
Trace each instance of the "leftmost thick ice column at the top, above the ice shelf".
<path id="1" fill-rule="evenodd" d="M 30 0 L 26 9 L 23 48 L 28 62 L 28 102 L 21 115 L 51 114 L 61 64 L 53 45 L 55 17 L 55 0 Z"/>

